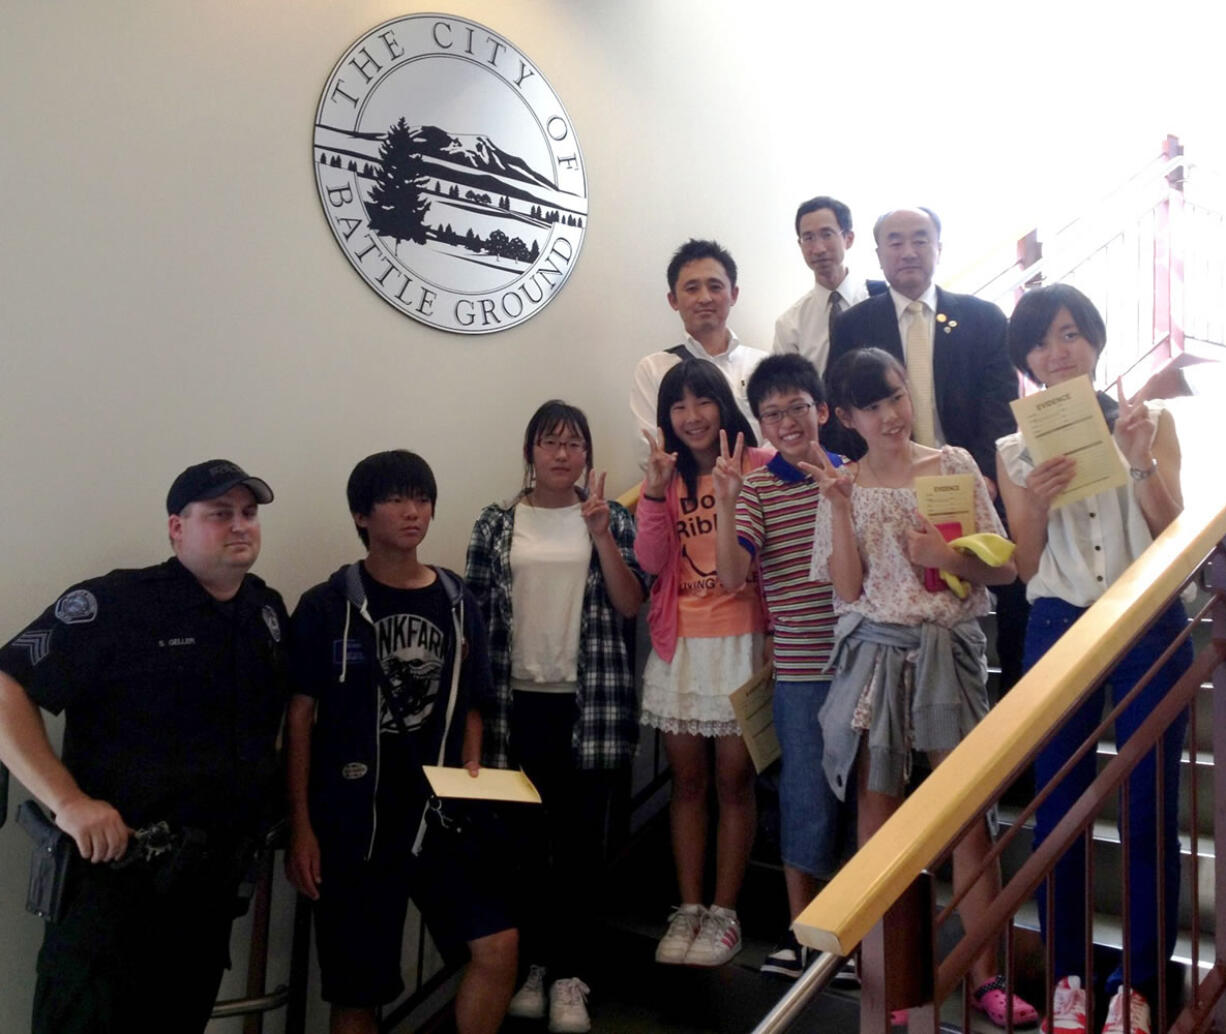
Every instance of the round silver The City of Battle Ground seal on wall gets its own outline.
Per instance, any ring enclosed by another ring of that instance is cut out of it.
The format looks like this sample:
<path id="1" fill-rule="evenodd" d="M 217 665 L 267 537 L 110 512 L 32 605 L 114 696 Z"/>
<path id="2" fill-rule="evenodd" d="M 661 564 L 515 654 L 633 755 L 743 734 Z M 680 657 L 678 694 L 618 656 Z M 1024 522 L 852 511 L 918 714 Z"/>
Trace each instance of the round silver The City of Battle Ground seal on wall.
<path id="1" fill-rule="evenodd" d="M 579 259 L 587 179 L 566 110 L 527 56 L 467 18 L 408 15 L 349 47 L 313 161 L 353 267 L 440 330 L 522 323 Z"/>

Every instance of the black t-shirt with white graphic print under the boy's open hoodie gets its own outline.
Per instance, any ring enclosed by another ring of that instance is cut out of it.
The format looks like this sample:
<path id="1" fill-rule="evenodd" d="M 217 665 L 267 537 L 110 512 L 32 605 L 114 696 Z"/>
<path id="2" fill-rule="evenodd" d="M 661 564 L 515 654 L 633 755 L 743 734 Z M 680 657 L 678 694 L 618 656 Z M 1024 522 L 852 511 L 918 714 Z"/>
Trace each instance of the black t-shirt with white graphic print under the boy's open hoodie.
<path id="1" fill-rule="evenodd" d="M 421 733 L 430 727 L 450 650 L 446 591 L 438 578 L 424 589 L 394 589 L 375 581 L 364 567 L 362 585 L 375 626 L 375 657 L 385 675 L 379 694 L 379 732 L 401 736 L 398 713 L 409 732 Z"/>

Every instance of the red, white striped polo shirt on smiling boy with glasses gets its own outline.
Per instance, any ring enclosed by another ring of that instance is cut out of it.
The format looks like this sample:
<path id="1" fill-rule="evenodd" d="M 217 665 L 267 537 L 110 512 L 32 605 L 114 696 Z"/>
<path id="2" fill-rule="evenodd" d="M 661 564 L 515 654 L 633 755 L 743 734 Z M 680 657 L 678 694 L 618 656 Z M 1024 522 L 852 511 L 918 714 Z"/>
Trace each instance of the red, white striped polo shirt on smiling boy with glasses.
<path id="1" fill-rule="evenodd" d="M 835 466 L 842 458 L 828 451 Z M 766 610 L 775 626 L 775 677 L 830 678 L 832 588 L 809 580 L 813 521 L 821 493 L 813 480 L 776 455 L 745 475 L 737 499 L 737 541 L 758 558 Z"/>

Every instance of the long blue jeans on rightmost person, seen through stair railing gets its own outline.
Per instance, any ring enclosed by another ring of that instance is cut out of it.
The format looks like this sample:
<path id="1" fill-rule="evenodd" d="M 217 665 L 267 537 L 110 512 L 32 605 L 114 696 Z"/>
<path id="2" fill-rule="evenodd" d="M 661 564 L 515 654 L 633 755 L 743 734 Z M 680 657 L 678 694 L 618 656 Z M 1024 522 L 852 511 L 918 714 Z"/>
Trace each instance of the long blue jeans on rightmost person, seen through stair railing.
<path id="1" fill-rule="evenodd" d="M 1060 635 L 1085 610 L 1063 600 L 1043 597 L 1030 610 L 1026 626 L 1025 668 L 1029 671 L 1047 653 Z M 1035 759 L 1035 785 L 1042 789 L 1056 772 L 1076 751 L 1081 742 L 1102 720 L 1102 705 L 1111 687 L 1111 699 L 1121 700 L 1154 660 L 1183 630 L 1188 617 L 1183 606 L 1176 603 L 1163 613 L 1133 649 L 1116 665 L 1107 682 L 1100 686 L 1085 703 L 1064 722 L 1056 737 L 1043 747 Z M 1150 680 L 1141 694 L 1116 719 L 1116 742 L 1123 743 L 1167 691 L 1192 664 L 1192 645 L 1184 643 Z M 1162 886 L 1166 894 L 1165 937 L 1159 943 L 1157 921 L 1157 765 L 1156 752 L 1151 751 L 1133 770 L 1128 781 L 1129 791 L 1129 943 L 1132 952 L 1133 986 L 1151 1001 L 1157 994 L 1157 974 L 1175 949 L 1176 925 L 1179 906 L 1179 753 L 1188 725 L 1184 711 L 1163 736 L 1162 798 L 1163 824 L 1161 829 L 1165 856 Z M 1068 774 L 1047 801 L 1038 808 L 1035 819 L 1035 846 L 1037 848 L 1056 824 L 1073 807 L 1076 798 L 1094 781 L 1096 774 L 1095 752 L 1086 754 Z M 1053 926 L 1047 925 L 1046 883 L 1038 888 L 1038 916 L 1043 937 L 1051 938 L 1054 948 L 1056 971 L 1052 979 L 1079 975 L 1085 979 L 1085 840 L 1078 839 L 1056 866 L 1053 883 Z M 1123 982 L 1123 969 L 1117 968 L 1107 978 L 1107 994 Z"/>

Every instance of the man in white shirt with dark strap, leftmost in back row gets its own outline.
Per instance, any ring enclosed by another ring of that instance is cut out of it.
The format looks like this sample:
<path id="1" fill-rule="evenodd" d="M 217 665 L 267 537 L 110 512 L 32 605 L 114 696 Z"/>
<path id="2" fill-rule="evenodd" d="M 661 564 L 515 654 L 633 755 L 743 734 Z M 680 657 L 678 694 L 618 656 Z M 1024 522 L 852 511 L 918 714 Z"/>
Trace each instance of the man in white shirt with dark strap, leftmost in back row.
<path id="1" fill-rule="evenodd" d="M 639 361 L 630 385 L 630 412 L 639 466 L 647 461 L 647 443 L 640 431 L 656 434 L 656 396 L 664 374 L 685 358 L 715 363 L 727 378 L 732 396 L 754 431 L 758 422 L 749 408 L 745 384 L 766 353 L 742 345 L 728 329 L 728 313 L 737 303 L 737 264 L 714 240 L 687 240 L 668 262 L 668 304 L 682 318 L 685 340 L 652 352 Z"/>

